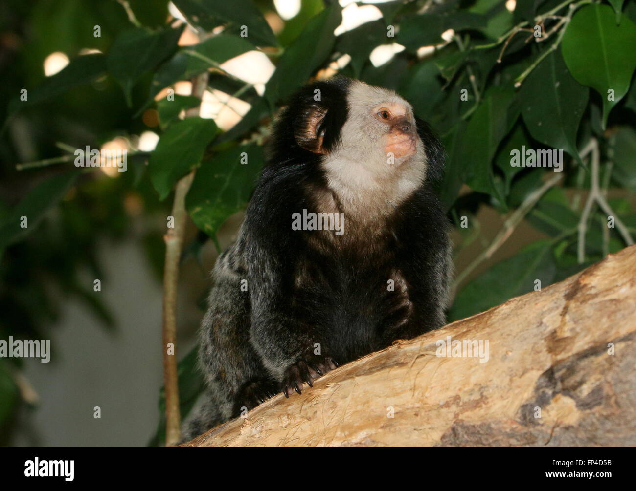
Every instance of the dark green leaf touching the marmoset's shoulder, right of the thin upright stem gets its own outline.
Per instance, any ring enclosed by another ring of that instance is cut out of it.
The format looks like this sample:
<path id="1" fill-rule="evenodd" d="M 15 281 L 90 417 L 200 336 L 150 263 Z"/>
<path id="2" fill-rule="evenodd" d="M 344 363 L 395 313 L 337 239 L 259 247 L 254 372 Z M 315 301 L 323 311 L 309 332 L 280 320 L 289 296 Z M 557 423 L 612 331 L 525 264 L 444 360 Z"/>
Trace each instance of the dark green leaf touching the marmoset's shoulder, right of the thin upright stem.
<path id="1" fill-rule="evenodd" d="M 263 159 L 263 148 L 251 143 L 216 154 L 198 168 L 186 208 L 212 239 L 223 222 L 247 204 Z"/>

